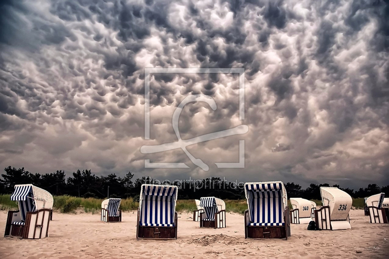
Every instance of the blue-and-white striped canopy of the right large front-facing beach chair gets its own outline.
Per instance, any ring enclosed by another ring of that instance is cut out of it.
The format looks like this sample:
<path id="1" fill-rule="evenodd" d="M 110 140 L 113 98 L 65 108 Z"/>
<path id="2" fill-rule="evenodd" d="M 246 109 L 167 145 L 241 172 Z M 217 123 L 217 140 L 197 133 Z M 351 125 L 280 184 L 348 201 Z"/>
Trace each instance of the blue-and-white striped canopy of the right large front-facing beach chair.
<path id="1" fill-rule="evenodd" d="M 286 190 L 282 182 L 246 183 L 250 225 L 284 225 L 283 212 L 287 207 Z"/>

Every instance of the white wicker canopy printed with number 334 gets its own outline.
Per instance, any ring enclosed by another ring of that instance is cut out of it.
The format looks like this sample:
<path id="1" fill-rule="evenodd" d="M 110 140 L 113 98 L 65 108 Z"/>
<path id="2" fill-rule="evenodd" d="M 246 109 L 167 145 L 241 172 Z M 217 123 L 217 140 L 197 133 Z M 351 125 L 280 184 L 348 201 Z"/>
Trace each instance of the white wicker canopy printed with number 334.
<path id="1" fill-rule="evenodd" d="M 347 220 L 353 199 L 351 196 L 336 187 L 320 187 L 323 206 L 330 207 L 331 221 Z"/>

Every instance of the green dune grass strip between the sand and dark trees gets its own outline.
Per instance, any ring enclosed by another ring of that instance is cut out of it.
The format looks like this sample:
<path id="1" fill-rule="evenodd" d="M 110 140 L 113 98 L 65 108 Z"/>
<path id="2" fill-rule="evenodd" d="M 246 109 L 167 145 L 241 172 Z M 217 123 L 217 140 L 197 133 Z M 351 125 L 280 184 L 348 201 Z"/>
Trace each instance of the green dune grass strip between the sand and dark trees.
<path id="1" fill-rule="evenodd" d="M 9 194 L 0 195 L 0 210 L 9 210 L 18 208 L 16 202 L 10 200 Z M 62 213 L 73 213 L 76 209 L 81 208 L 88 213 L 100 213 L 101 202 L 103 199 L 95 198 L 79 198 L 72 197 L 69 195 L 53 196 L 54 204 L 53 208 L 59 210 Z M 318 206 L 321 206 L 320 200 L 313 200 Z M 247 209 L 246 200 L 225 200 L 226 211 L 234 212 L 239 214 L 244 214 Z M 136 202 L 133 198 L 122 199 L 120 204 L 120 209 L 122 211 L 136 210 L 139 203 Z M 291 209 L 290 202 L 288 200 L 288 206 Z M 363 209 L 364 199 L 363 198 L 353 198 L 353 206 L 357 209 Z M 189 212 L 197 209 L 195 200 L 177 200 L 177 212 Z"/>

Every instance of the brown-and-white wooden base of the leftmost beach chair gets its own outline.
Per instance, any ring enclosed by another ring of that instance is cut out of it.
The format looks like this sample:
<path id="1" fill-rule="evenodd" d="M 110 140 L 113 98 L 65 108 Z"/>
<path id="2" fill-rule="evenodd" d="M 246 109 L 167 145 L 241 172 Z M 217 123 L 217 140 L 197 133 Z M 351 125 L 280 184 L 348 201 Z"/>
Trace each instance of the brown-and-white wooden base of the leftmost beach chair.
<path id="1" fill-rule="evenodd" d="M 26 221 L 20 223 L 19 210 L 8 211 L 5 225 L 5 236 L 14 236 L 23 239 L 40 239 L 48 237 L 51 209 L 43 208 L 35 212 L 26 213 Z M 18 222 L 18 223 L 17 223 Z"/>

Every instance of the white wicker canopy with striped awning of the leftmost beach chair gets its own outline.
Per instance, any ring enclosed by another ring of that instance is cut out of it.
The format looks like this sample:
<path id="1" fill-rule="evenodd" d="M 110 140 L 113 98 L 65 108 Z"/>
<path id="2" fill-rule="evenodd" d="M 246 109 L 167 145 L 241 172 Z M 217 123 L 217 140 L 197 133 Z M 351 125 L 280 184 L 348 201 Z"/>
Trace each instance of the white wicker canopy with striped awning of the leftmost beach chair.
<path id="1" fill-rule="evenodd" d="M 34 212 L 42 208 L 53 208 L 53 196 L 46 190 L 32 184 L 15 185 L 11 194 L 11 201 L 17 201 L 22 221 L 26 220 L 27 212 Z"/>

